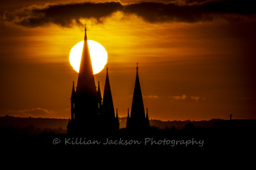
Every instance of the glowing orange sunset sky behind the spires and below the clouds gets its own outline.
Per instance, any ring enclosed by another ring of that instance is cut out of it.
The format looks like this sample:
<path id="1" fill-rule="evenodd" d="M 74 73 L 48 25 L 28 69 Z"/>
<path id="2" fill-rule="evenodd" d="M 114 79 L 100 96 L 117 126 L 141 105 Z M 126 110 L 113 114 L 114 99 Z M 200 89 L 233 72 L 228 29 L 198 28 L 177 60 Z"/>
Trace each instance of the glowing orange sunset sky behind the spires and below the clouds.
<path id="1" fill-rule="evenodd" d="M 83 1 L 76 2 L 80 5 Z M 150 119 L 210 120 L 229 114 L 256 118 L 256 12 L 241 4 L 248 9 L 234 7 L 222 13 L 205 2 L 212 4 L 206 0 L 175 1 L 179 5 L 171 8 L 178 9 L 173 14 L 156 3 L 162 10 L 154 14 L 153 8 L 151 12 L 143 10 L 151 7 L 149 4 L 139 8 L 145 4 L 122 1 L 125 9 L 117 4 L 118 10 L 109 12 L 113 4 L 106 10 L 96 6 L 86 18 L 72 11 L 66 1 L 65 14 L 46 11 L 40 20 L 28 19 L 36 16 L 31 9 L 42 12 L 49 1 L 1 2 L 0 116 L 70 117 L 72 81 L 77 81 L 78 73 L 70 66 L 68 55 L 84 36 L 83 25 L 74 21 L 77 16 L 79 22 L 87 22 L 88 39 L 98 41 L 109 54 L 109 79 L 119 116 L 127 116 L 132 105 L 138 62 Z M 242 3 L 230 2 L 235 6 Z M 202 6 L 197 10 L 202 14 L 193 11 L 195 3 Z M 61 6 L 56 4 L 53 6 Z M 184 5 L 189 9 L 186 12 Z M 74 17 L 72 24 L 63 16 Z M 102 92 L 105 75 L 105 69 L 95 75 Z"/>

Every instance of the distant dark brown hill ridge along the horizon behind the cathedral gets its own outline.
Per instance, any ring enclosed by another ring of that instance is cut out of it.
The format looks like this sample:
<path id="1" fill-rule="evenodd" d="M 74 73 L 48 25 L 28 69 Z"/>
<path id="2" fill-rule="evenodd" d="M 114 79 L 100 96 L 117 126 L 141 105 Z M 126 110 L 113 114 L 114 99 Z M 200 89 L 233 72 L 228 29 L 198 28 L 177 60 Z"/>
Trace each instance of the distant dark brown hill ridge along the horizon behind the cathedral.
<path id="1" fill-rule="evenodd" d="M 127 117 L 119 117 L 119 129 L 126 128 Z M 251 126 L 256 123 L 256 120 L 232 120 L 234 124 L 238 126 Z M 150 126 L 158 129 L 171 129 L 173 126 L 175 129 L 182 130 L 186 124 L 192 123 L 196 127 L 202 128 L 220 128 L 227 127 L 229 120 L 212 119 L 212 120 L 150 120 Z M 16 129 L 29 128 L 35 131 L 54 131 L 55 133 L 66 133 L 68 119 L 57 118 L 20 118 L 14 116 L 2 116 L 0 117 L 0 127 L 10 127 Z"/>

